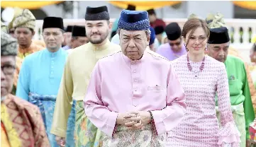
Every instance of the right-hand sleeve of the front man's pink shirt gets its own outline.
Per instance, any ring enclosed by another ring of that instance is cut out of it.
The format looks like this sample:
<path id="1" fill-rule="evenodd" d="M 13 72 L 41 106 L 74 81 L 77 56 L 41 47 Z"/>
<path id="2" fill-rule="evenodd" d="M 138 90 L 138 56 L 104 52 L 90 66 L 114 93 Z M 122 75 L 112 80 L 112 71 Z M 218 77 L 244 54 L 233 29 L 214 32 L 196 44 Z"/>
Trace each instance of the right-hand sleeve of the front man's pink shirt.
<path id="1" fill-rule="evenodd" d="M 187 108 L 184 90 L 172 66 L 167 79 L 166 103 L 167 106 L 164 109 L 152 111 L 158 135 L 177 127 Z"/>

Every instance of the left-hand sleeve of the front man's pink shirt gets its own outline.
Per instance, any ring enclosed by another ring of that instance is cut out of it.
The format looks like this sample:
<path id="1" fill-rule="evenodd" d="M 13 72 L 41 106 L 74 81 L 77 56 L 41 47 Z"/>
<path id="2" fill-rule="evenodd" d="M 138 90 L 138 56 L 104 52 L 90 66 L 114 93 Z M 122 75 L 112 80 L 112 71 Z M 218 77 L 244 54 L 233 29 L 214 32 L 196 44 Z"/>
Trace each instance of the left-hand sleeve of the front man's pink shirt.
<path id="1" fill-rule="evenodd" d="M 91 79 L 84 98 L 84 111 L 89 120 L 106 135 L 112 136 L 118 113 L 111 112 L 101 100 L 101 71 L 99 62 L 91 73 Z"/>

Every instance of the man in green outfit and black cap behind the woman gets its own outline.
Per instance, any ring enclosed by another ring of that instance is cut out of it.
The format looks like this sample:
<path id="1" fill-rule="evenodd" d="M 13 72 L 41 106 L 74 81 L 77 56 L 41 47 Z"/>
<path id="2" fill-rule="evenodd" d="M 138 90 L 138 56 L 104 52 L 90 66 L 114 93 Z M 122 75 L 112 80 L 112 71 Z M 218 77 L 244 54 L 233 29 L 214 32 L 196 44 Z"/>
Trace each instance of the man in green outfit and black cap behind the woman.
<path id="1" fill-rule="evenodd" d="M 250 89 L 244 62 L 238 57 L 228 55 L 230 38 L 226 27 L 210 28 L 208 39 L 208 55 L 225 64 L 228 73 L 231 110 L 235 124 L 240 131 L 240 147 L 249 145 L 248 126 L 255 119 L 252 107 Z M 250 76 L 250 75 L 249 75 Z M 218 113 L 218 98 L 216 98 L 216 112 Z M 219 117 L 219 116 L 218 116 Z M 221 124 L 221 123 L 220 123 Z"/>

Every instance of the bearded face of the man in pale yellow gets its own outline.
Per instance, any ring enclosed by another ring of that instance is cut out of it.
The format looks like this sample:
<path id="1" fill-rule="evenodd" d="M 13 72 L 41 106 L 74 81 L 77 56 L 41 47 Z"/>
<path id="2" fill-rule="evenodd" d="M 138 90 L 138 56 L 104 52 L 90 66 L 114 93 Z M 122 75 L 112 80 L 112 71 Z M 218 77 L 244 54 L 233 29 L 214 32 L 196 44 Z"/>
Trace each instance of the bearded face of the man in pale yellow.
<path id="1" fill-rule="evenodd" d="M 89 42 L 92 44 L 101 44 L 108 37 L 111 24 L 107 20 L 87 20 L 85 30 Z"/>

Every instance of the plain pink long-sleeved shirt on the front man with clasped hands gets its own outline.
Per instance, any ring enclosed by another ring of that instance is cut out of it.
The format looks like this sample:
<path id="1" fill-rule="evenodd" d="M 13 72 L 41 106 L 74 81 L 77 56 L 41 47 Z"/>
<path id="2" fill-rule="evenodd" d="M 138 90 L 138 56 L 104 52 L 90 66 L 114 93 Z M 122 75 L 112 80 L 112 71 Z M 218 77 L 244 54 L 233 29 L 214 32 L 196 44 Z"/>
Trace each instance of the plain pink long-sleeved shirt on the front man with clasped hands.
<path id="1" fill-rule="evenodd" d="M 96 127 L 112 136 L 118 113 L 151 110 L 160 135 L 181 122 L 184 101 L 170 61 L 146 49 L 137 61 L 122 52 L 100 59 L 91 74 L 84 111 Z"/>

